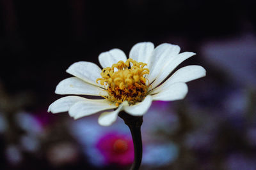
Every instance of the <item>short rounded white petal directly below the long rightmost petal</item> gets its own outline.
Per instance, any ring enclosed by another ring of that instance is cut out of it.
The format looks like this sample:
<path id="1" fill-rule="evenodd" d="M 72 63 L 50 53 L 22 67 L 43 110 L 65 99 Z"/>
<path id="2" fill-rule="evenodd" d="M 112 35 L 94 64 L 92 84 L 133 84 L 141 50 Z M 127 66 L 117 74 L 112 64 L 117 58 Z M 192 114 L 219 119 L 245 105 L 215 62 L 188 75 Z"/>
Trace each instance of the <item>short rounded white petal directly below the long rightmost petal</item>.
<path id="1" fill-rule="evenodd" d="M 186 83 L 173 83 L 169 87 L 164 87 L 157 94 L 152 95 L 154 101 L 176 101 L 184 99 L 188 93 L 188 86 Z"/>

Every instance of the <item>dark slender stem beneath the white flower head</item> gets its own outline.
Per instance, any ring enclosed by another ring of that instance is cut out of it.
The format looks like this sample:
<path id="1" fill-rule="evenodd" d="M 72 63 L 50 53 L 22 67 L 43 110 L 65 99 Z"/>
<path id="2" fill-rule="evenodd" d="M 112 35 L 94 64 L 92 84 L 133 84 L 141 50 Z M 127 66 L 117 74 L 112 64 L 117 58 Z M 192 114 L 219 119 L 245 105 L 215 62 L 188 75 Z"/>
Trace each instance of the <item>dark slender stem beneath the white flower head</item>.
<path id="1" fill-rule="evenodd" d="M 134 162 L 130 170 L 138 170 L 142 160 L 142 141 L 140 127 L 143 123 L 143 117 L 134 117 L 121 111 L 118 116 L 122 118 L 126 125 L 128 125 L 134 146 Z"/>

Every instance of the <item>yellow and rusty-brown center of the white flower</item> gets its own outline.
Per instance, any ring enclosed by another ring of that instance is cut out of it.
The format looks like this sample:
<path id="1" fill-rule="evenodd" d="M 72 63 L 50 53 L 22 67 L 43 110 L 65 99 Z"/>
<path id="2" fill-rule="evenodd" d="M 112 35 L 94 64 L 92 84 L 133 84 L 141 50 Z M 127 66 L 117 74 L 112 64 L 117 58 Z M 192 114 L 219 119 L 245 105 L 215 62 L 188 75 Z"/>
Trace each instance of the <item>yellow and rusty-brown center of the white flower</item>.
<path id="1" fill-rule="evenodd" d="M 108 96 L 102 96 L 116 106 L 124 101 L 128 101 L 130 105 L 143 101 L 147 95 L 148 85 L 145 74 L 149 73 L 149 69 L 144 68 L 147 64 L 136 62 L 136 60 L 127 59 L 126 62 L 120 60 L 111 67 L 102 69 L 97 78 L 97 83 L 107 85 Z"/>

